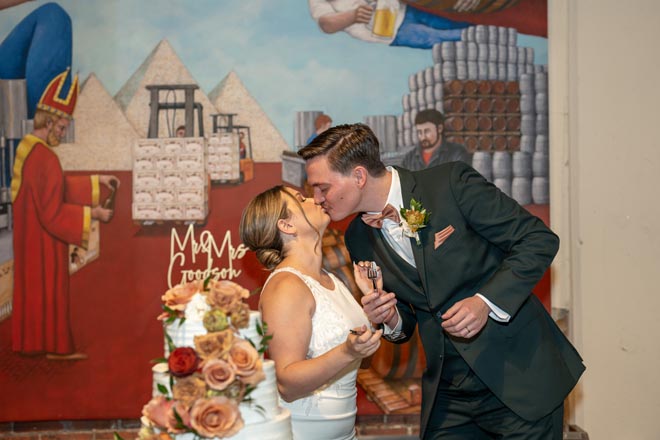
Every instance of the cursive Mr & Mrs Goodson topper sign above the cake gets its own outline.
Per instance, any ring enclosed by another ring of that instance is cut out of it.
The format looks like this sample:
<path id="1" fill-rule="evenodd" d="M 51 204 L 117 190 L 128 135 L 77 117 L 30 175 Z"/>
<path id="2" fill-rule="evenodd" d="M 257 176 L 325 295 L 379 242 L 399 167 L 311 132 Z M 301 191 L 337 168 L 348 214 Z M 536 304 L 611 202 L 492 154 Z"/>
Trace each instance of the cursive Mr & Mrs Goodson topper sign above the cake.
<path id="1" fill-rule="evenodd" d="M 218 247 L 210 231 L 202 231 L 199 237 L 195 237 L 195 228 L 190 225 L 183 239 L 181 239 L 176 229 L 172 228 L 167 285 L 172 288 L 172 286 L 179 283 L 205 280 L 209 276 L 215 280 L 236 278 L 241 274 L 241 271 L 234 269 L 234 261 L 243 258 L 247 251 L 248 248 L 243 243 L 234 247 L 230 231 L 225 233 L 222 244 Z M 197 267 L 199 265 L 197 261 L 203 259 L 206 260 L 203 269 L 192 268 Z M 218 267 L 216 266 L 216 260 L 218 262 L 222 261 L 226 265 Z M 176 272 L 180 273 L 180 279 L 178 280 L 174 280 L 178 276 Z"/>

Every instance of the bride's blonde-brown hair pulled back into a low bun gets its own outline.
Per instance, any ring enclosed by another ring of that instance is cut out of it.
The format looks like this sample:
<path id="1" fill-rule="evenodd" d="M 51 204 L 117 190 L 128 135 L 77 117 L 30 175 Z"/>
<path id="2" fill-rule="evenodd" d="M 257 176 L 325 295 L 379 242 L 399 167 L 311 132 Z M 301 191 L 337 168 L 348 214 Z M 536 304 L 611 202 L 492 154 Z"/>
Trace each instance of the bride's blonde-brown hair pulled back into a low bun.
<path id="1" fill-rule="evenodd" d="M 298 199 L 286 192 L 282 185 L 262 192 L 243 210 L 239 234 L 243 243 L 256 253 L 259 262 L 269 270 L 274 269 L 285 257 L 284 240 L 277 228 L 277 221 L 289 218 L 291 211 L 283 194 L 298 205 L 305 221 L 318 235 L 317 245 L 321 243 L 320 232 L 310 223 Z"/>

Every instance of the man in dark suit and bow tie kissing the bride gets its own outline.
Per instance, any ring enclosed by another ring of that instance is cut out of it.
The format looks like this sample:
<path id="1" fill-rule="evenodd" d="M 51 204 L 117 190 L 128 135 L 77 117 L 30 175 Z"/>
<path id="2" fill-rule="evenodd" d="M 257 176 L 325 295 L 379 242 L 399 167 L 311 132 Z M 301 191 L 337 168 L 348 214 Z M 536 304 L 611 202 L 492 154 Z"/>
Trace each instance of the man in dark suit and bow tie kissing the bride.
<path id="1" fill-rule="evenodd" d="M 557 236 L 465 163 L 386 168 L 363 124 L 330 128 L 298 154 L 332 220 L 359 213 L 346 231 L 351 258 L 375 261 L 394 292 L 362 298 L 369 319 L 395 343 L 419 326 L 420 437 L 561 439 L 563 401 L 584 366 L 531 292 Z M 401 218 L 412 204 L 426 218 Z"/>

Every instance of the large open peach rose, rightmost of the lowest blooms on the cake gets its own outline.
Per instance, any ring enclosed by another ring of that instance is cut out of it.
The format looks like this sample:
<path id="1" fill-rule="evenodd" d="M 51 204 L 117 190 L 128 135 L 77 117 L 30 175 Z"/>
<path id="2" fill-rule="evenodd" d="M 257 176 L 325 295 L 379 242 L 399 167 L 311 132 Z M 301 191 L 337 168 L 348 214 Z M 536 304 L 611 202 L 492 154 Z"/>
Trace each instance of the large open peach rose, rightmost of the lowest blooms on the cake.
<path id="1" fill-rule="evenodd" d="M 238 405 L 224 396 L 200 399 L 190 410 L 190 425 L 202 437 L 231 437 L 243 428 Z"/>

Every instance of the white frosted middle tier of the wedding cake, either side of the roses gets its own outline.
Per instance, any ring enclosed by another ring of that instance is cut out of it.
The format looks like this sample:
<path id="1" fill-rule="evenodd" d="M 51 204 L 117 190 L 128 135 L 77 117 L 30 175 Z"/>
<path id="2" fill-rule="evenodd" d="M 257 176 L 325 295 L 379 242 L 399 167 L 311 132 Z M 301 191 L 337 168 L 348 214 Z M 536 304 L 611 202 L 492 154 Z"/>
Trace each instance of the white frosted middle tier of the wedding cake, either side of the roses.
<path id="1" fill-rule="evenodd" d="M 257 388 L 250 393 L 252 402 L 243 402 L 239 406 L 241 417 L 243 417 L 243 421 L 246 425 L 263 423 L 270 419 L 277 418 L 282 411 L 282 408 L 279 406 L 277 395 L 275 362 L 270 359 L 264 360 L 263 368 L 266 378 L 259 382 Z M 170 375 L 167 373 L 167 364 L 156 364 L 153 366 L 152 371 L 152 395 L 158 396 L 161 394 L 158 390 L 158 385 L 167 388 L 168 393 L 172 395 L 172 390 L 170 389 Z"/>

